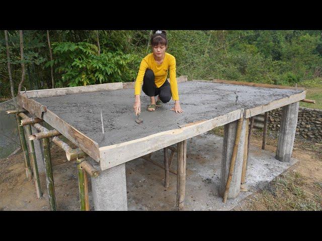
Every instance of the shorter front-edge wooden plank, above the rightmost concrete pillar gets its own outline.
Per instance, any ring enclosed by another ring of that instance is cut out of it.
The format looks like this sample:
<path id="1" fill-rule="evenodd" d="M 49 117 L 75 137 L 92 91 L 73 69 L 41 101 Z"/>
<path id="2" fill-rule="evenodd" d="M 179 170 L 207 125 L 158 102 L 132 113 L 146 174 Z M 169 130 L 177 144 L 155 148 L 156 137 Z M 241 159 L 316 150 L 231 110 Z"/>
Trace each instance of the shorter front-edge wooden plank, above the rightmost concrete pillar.
<path id="1" fill-rule="evenodd" d="M 244 118 L 249 118 L 249 117 L 264 113 L 266 111 L 270 111 L 272 109 L 277 109 L 279 107 L 295 103 L 297 101 L 305 99 L 305 95 L 306 95 L 306 90 L 297 94 L 292 94 L 289 97 L 273 100 L 267 104 L 262 104 L 260 106 L 256 106 L 250 109 L 245 109 Z"/>

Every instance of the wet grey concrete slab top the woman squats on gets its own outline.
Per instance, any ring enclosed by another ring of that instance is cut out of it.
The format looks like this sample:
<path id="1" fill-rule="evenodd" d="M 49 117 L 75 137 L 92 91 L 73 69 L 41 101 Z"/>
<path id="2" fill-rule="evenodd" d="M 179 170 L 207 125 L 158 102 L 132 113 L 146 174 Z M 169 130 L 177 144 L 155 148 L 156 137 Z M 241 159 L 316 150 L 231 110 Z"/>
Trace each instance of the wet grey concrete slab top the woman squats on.
<path id="1" fill-rule="evenodd" d="M 178 129 L 180 125 L 210 119 L 238 108 L 266 104 L 302 91 L 195 81 L 179 83 L 178 88 L 185 111 L 181 114 L 170 110 L 174 106 L 173 100 L 155 112 L 148 112 L 149 97 L 141 92 L 141 125 L 135 123 L 133 89 L 34 99 L 103 147 Z M 101 110 L 105 138 L 102 136 Z"/>

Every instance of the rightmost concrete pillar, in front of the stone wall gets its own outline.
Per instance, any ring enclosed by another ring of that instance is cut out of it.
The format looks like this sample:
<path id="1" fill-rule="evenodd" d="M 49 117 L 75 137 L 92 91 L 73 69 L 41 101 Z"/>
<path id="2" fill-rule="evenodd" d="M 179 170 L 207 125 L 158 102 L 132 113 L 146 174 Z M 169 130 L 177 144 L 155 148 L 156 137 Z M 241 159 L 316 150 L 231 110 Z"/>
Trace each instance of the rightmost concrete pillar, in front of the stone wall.
<path id="1" fill-rule="evenodd" d="M 289 162 L 291 160 L 297 125 L 298 105 L 299 102 L 295 102 L 283 107 L 276 150 L 276 159 L 281 162 Z"/>

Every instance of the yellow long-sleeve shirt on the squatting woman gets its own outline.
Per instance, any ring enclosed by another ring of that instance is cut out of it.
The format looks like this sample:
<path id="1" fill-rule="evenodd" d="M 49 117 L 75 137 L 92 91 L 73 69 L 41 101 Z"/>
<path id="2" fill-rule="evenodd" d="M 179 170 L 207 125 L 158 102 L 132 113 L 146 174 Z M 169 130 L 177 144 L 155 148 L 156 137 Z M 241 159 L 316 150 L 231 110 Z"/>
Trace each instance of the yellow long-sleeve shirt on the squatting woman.
<path id="1" fill-rule="evenodd" d="M 157 88 L 162 86 L 168 76 L 170 70 L 170 88 L 173 100 L 179 100 L 178 84 L 176 79 L 176 58 L 171 54 L 165 53 L 165 59 L 162 64 L 157 64 L 154 60 L 153 53 L 146 55 L 140 64 L 134 86 L 134 95 L 141 93 L 143 77 L 146 69 L 151 69 L 154 73 L 154 83 Z"/>

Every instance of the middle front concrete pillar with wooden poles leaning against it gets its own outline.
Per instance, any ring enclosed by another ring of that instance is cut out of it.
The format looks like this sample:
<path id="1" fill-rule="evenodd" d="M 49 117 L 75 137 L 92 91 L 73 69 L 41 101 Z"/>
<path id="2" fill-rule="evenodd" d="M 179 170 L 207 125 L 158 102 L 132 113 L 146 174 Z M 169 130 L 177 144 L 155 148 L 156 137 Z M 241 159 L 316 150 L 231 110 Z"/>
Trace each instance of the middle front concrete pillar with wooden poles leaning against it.
<path id="1" fill-rule="evenodd" d="M 220 187 L 219 187 L 219 194 L 222 197 L 225 192 L 225 187 L 226 187 L 226 182 L 227 182 L 229 167 L 230 167 L 230 160 L 232 156 L 233 146 L 235 144 L 237 122 L 238 121 L 228 123 L 224 127 L 224 137 L 223 137 L 222 157 L 221 157 Z M 246 133 L 246 119 L 243 120 L 243 126 L 241 127 L 236 162 L 235 162 L 235 167 L 232 174 L 227 198 L 236 198 L 239 194 L 241 172 L 243 170 L 243 160 L 244 160 L 245 133 Z"/>

